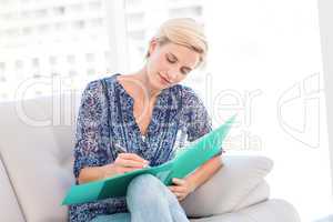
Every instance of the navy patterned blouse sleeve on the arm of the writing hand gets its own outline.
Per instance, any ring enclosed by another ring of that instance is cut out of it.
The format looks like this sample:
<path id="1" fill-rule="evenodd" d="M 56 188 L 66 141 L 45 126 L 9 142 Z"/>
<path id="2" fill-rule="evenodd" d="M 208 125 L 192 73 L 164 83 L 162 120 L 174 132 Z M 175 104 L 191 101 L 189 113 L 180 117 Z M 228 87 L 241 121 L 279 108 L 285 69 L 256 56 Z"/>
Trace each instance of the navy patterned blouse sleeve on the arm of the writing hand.
<path id="1" fill-rule="evenodd" d="M 93 81 L 84 89 L 77 119 L 73 173 L 78 179 L 81 169 L 107 164 L 102 149 L 102 87 Z"/>

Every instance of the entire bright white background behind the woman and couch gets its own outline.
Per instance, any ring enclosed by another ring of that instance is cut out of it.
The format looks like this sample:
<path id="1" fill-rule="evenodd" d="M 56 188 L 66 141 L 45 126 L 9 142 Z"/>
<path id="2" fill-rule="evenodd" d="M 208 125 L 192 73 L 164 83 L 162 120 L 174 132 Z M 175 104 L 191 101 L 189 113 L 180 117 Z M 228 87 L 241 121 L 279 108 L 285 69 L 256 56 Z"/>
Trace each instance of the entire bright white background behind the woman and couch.
<path id="1" fill-rule="evenodd" d="M 333 209 L 316 4 L 0 0 L 0 101 L 80 91 L 93 79 L 135 71 L 161 22 L 194 18 L 204 24 L 210 54 L 185 84 L 214 124 L 239 113 L 226 153 L 274 160 L 271 196 L 315 221 Z"/>

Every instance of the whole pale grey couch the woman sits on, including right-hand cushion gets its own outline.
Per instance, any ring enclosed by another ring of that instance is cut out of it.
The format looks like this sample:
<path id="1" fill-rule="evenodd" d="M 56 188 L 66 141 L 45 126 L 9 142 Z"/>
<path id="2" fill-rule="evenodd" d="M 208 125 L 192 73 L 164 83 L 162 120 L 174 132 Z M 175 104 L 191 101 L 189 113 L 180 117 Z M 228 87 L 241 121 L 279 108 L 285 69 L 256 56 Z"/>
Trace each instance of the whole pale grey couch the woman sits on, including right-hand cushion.
<path id="1" fill-rule="evenodd" d="M 0 221 L 63 222 L 60 203 L 73 184 L 79 97 L 0 103 Z M 50 120 L 48 122 L 48 120 Z M 299 222 L 294 208 L 270 200 L 263 157 L 223 157 L 224 167 L 182 202 L 191 221 Z M 204 218 L 202 218 L 204 216 Z"/>

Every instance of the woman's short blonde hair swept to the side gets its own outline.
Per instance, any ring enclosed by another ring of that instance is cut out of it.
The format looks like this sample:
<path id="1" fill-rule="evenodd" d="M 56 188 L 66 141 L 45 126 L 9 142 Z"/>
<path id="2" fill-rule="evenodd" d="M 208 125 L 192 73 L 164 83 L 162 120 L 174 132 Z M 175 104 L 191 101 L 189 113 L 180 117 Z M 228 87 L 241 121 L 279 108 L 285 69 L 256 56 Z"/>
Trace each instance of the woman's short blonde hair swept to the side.
<path id="1" fill-rule="evenodd" d="M 208 42 L 203 27 L 191 18 L 176 18 L 167 20 L 161 24 L 153 37 L 160 46 L 175 43 L 186 47 L 200 54 L 200 63 L 205 61 Z M 148 51 L 147 58 L 150 57 Z"/>

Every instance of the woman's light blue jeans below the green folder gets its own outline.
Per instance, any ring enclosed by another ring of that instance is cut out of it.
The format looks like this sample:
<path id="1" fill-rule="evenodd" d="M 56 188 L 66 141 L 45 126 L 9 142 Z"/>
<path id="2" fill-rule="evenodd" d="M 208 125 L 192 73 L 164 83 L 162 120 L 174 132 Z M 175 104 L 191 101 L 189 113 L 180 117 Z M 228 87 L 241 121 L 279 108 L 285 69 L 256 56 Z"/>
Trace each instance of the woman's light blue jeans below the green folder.
<path id="1" fill-rule="evenodd" d="M 131 181 L 127 204 L 129 213 L 99 215 L 91 222 L 189 222 L 175 195 L 151 174 Z"/>

